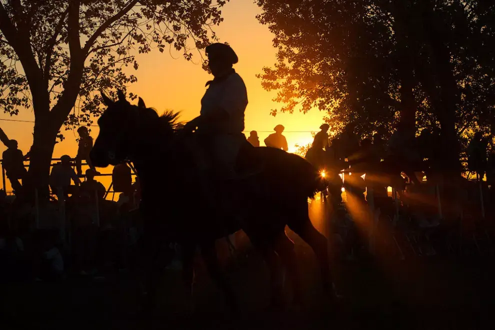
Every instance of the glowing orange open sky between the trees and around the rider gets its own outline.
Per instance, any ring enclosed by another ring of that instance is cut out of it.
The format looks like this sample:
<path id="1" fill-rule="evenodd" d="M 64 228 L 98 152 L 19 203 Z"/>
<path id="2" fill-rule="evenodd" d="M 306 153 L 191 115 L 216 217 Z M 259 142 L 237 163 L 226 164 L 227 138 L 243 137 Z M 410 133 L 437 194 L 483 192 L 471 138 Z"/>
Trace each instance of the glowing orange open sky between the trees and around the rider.
<path id="1" fill-rule="evenodd" d="M 263 66 L 271 66 L 275 62 L 275 49 L 272 48 L 273 35 L 267 26 L 261 25 L 255 18 L 260 12 L 252 0 L 231 0 L 222 9 L 224 21 L 215 28 L 220 41 L 227 41 L 239 57 L 234 65 L 235 70 L 244 79 L 247 87 L 249 104 L 245 112 L 245 130 L 257 130 L 261 141 L 272 131 L 276 124 L 283 124 L 286 132 L 289 151 L 294 151 L 294 144 L 306 144 L 312 140 L 311 133 L 294 131 L 317 130 L 322 123 L 324 113 L 311 110 L 302 113 L 280 113 L 276 117 L 269 114 L 270 109 L 278 107 L 271 101 L 275 92 L 267 92 L 261 87 L 260 79 L 255 75 L 261 72 Z M 137 76 L 137 82 L 130 85 L 128 90 L 142 97 L 147 106 L 152 106 L 162 112 L 164 109 L 181 111 L 182 120 L 188 120 L 199 114 L 200 99 L 204 93 L 204 84 L 212 77 L 201 69 L 199 56 L 195 55 L 196 63 L 188 62 L 179 52 L 172 50 L 172 58 L 167 51 L 160 53 L 151 51 L 139 54 L 139 68 L 134 71 L 129 67 L 129 73 Z M 33 120 L 31 110 L 21 111 L 19 115 L 9 117 L 0 113 L 0 118 Z M 9 138 L 19 142 L 19 148 L 26 152 L 32 143 L 32 124 L 0 121 L 0 127 Z M 268 131 L 268 132 L 262 132 Z M 96 137 L 97 127 L 91 128 L 91 135 Z M 65 140 L 55 145 L 53 157 L 62 154 L 75 156 L 77 145 L 75 133 L 65 131 Z M 0 143 L 1 144 L 1 143 Z M 0 145 L 0 152 L 4 150 Z"/>

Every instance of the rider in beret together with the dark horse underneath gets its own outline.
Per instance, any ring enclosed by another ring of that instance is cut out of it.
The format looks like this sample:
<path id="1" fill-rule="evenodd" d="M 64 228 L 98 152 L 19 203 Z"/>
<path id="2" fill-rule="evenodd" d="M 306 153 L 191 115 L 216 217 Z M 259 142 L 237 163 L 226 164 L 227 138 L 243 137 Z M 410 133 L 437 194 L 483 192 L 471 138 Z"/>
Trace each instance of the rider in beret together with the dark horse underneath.
<path id="1" fill-rule="evenodd" d="M 237 56 L 220 43 L 209 45 L 206 52 L 214 79 L 207 83 L 200 115 L 181 128 L 176 113 L 160 117 L 140 98 L 136 106 L 121 91 L 117 101 L 102 94 L 107 108 L 98 119 L 100 130 L 90 156 L 98 167 L 124 160 L 134 163 L 142 189 L 139 209 L 147 254 L 143 262 L 149 267 L 147 292 L 156 293 L 160 269 L 170 260 L 167 243 L 173 241 L 182 246 L 184 279 L 189 287 L 192 259 L 199 247 L 227 305 L 232 311 L 237 309 L 233 291 L 219 268 L 214 241 L 243 229 L 269 265 L 273 303 L 282 299 L 277 258 L 292 279 L 294 300 L 299 300 L 301 285 L 294 243 L 284 231 L 287 225 L 315 251 L 323 289 L 331 296 L 327 241 L 308 216 L 307 198 L 321 189 L 317 170 L 295 154 L 254 147 L 246 140 L 242 134 L 246 89 L 232 68 Z M 199 198 L 191 207 L 184 195 L 197 183 Z M 207 220 L 200 216 L 204 214 Z M 160 254 L 163 256 L 158 257 Z M 149 296 L 149 308 L 152 300 Z"/>

